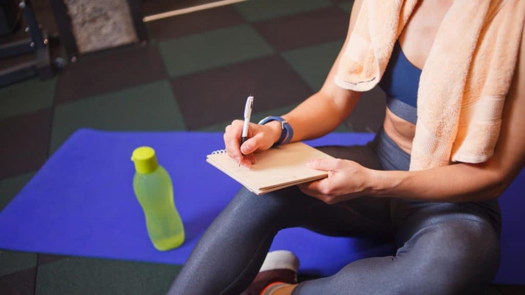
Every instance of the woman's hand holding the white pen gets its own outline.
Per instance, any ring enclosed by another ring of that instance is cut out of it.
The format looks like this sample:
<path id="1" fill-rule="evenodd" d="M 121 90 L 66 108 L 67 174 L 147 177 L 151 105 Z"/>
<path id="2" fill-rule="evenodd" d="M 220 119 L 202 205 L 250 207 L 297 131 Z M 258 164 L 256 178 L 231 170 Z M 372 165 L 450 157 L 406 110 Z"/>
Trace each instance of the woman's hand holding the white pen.
<path id="1" fill-rule="evenodd" d="M 281 130 L 280 123 L 277 121 L 272 121 L 265 125 L 250 123 L 248 140 L 242 146 L 239 146 L 241 134 L 243 133 L 243 124 L 244 121 L 242 120 L 234 120 L 232 124 L 226 126 L 224 145 L 229 157 L 249 168 L 255 163 L 253 153 L 271 148 L 279 140 Z"/>

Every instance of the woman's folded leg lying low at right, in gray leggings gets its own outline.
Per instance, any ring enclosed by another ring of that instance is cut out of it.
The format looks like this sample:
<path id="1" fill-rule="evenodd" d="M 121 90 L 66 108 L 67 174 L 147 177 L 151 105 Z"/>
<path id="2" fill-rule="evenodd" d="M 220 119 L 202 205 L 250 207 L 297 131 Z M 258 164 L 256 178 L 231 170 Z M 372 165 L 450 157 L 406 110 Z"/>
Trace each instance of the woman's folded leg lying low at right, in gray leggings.
<path id="1" fill-rule="evenodd" d="M 496 275 L 499 232 L 484 212 L 436 204 L 400 227 L 395 256 L 354 261 L 292 294 L 479 294 Z"/>

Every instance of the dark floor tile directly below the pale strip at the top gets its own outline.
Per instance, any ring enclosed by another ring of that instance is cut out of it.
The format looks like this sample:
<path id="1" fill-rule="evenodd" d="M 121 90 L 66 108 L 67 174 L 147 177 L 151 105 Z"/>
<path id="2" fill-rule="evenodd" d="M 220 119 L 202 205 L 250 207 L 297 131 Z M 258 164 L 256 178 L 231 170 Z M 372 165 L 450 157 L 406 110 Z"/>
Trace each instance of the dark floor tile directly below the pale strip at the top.
<path id="1" fill-rule="evenodd" d="M 243 24 L 245 20 L 232 6 L 153 20 L 146 23 L 152 39 L 171 39 Z"/>

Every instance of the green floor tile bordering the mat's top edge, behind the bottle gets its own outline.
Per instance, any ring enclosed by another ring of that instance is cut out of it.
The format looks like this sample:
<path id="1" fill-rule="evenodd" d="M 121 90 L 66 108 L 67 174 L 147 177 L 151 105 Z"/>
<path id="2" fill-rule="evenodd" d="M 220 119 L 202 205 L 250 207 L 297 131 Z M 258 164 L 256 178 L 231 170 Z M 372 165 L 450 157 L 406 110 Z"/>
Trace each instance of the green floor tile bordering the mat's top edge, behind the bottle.
<path id="1" fill-rule="evenodd" d="M 51 152 L 79 128 L 185 130 L 170 83 L 161 80 L 55 107 Z"/>

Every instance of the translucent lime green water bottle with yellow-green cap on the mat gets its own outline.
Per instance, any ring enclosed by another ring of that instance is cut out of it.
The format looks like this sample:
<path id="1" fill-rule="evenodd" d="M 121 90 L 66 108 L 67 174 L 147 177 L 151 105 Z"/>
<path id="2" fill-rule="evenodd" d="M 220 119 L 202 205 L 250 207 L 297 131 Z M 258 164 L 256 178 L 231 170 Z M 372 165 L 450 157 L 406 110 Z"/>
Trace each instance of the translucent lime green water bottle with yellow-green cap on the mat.
<path id="1" fill-rule="evenodd" d="M 139 200 L 153 246 L 166 251 L 184 242 L 184 227 L 173 202 L 170 175 L 159 165 L 155 151 L 141 146 L 133 151 L 133 190 Z"/>

